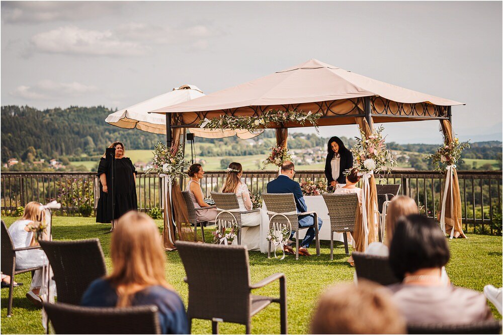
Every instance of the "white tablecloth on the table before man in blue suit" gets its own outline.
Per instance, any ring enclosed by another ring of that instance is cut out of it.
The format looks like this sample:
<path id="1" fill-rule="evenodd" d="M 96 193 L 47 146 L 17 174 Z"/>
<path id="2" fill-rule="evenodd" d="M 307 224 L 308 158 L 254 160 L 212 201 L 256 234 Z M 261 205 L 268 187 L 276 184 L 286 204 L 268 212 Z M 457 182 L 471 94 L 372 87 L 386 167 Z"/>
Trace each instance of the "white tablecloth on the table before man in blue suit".
<path id="1" fill-rule="evenodd" d="M 328 217 L 328 209 L 326 208 L 325 201 L 322 196 L 304 196 L 308 211 L 314 211 L 318 217 L 323 220 L 321 229 L 319 231 L 319 239 L 330 240 L 330 219 Z M 260 251 L 267 253 L 268 241 L 267 233 L 269 232 L 269 217 L 267 216 L 267 207 L 262 202 L 261 224 L 260 224 Z M 306 234 L 307 229 L 299 231 L 299 239 L 302 240 Z M 344 241 L 342 233 L 333 233 L 334 241 Z M 300 242 L 300 241 L 299 241 Z"/>

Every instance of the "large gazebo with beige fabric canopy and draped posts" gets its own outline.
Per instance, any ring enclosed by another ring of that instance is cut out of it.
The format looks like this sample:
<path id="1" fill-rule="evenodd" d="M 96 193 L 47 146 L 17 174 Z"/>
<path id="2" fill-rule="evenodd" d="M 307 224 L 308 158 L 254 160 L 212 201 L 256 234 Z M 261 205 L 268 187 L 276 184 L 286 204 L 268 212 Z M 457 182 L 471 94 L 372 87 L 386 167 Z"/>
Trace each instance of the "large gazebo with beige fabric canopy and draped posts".
<path id="1" fill-rule="evenodd" d="M 204 120 L 223 115 L 260 117 L 270 110 L 319 113 L 318 126 L 356 124 L 366 136 L 374 132 L 374 122 L 439 120 L 444 137 L 450 142 L 453 139 L 451 107 L 457 105 L 464 104 L 401 88 L 311 59 L 262 78 L 150 113 L 166 114 L 167 145 L 176 150 L 186 128 L 196 128 Z M 303 123 L 294 120 L 266 124 L 263 128 L 274 128 L 277 144 L 286 147 L 287 129 L 302 126 Z M 451 192 L 446 192 L 444 197 L 445 223 L 464 237 L 455 169 L 452 169 L 452 174 Z M 377 195 L 373 176 L 369 182 L 370 201 L 366 202 L 366 212 L 369 224 L 375 224 L 373 206 Z M 174 192 L 179 193 L 180 189 L 176 187 Z M 175 202 L 177 198 L 181 199 L 181 195 L 174 194 Z M 184 207 L 174 207 L 177 221 L 187 222 L 184 219 Z M 177 210 L 181 213 L 177 213 Z M 369 235 L 369 241 L 373 238 Z"/>

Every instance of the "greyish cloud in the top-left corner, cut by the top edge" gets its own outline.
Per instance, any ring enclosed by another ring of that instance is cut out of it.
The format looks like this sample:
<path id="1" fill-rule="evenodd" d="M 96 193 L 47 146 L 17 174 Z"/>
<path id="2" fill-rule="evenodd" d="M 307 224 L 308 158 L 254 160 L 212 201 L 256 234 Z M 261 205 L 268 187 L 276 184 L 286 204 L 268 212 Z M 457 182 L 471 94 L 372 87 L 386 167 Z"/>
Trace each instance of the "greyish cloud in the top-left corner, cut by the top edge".
<path id="1" fill-rule="evenodd" d="M 2 21 L 11 24 L 37 24 L 54 21 L 95 20 L 121 12 L 121 2 L 4 1 Z"/>

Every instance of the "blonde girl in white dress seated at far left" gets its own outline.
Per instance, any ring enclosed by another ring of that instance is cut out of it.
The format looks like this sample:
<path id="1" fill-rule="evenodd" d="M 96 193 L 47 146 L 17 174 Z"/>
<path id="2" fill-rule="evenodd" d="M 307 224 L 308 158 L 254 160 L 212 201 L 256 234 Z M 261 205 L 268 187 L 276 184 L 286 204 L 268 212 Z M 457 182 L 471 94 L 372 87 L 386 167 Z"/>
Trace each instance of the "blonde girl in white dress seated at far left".
<path id="1" fill-rule="evenodd" d="M 9 227 L 9 234 L 15 248 L 24 248 L 39 245 L 35 239 L 33 229 L 37 228 L 45 219 L 45 210 L 42 204 L 32 201 L 26 204 L 23 217 Z M 16 270 L 46 266 L 47 257 L 42 249 L 23 250 L 16 253 Z M 35 271 L 26 297 L 37 306 L 42 305 L 40 287 L 42 286 L 42 270 Z M 55 287 L 51 287 L 54 290 Z M 53 291 L 54 292 L 54 291 Z"/>

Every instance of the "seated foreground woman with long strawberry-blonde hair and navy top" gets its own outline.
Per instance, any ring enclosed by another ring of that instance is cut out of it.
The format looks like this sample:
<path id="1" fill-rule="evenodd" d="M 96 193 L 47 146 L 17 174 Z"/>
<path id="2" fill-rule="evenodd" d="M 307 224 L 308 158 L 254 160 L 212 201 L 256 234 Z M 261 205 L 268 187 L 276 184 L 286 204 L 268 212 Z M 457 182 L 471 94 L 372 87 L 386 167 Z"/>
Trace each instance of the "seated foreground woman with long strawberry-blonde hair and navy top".
<path id="1" fill-rule="evenodd" d="M 155 305 L 163 334 L 188 334 L 184 303 L 164 278 L 166 256 L 154 221 L 136 211 L 121 216 L 112 235 L 110 254 L 112 274 L 92 282 L 80 304 Z"/>

